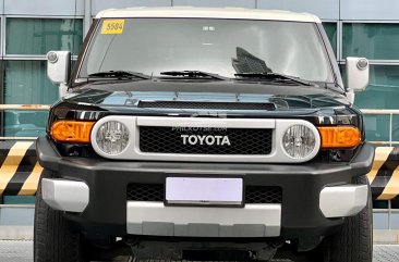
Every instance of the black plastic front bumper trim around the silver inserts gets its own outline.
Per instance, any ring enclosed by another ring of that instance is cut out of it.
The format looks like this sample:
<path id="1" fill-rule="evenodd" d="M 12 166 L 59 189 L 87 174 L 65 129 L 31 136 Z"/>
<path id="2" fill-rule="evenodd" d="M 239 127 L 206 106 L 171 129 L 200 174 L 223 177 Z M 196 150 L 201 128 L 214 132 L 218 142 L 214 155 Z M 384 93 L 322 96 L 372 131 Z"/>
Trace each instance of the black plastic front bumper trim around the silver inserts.
<path id="1" fill-rule="evenodd" d="M 57 177 L 84 180 L 89 186 L 87 209 L 80 214 L 65 214 L 65 217 L 75 222 L 87 234 L 126 234 L 126 186 L 130 183 L 161 184 L 166 176 L 181 174 L 209 177 L 241 175 L 246 186 L 282 188 L 281 237 L 294 239 L 303 236 L 326 236 L 342 224 L 342 219 L 324 217 L 318 208 L 319 192 L 325 186 L 351 184 L 353 177 L 365 175 L 373 164 L 374 147 L 362 145 L 350 163 L 126 162 L 61 158 L 51 141 L 40 137 L 37 141 L 37 153 L 45 170 L 56 172 Z"/>

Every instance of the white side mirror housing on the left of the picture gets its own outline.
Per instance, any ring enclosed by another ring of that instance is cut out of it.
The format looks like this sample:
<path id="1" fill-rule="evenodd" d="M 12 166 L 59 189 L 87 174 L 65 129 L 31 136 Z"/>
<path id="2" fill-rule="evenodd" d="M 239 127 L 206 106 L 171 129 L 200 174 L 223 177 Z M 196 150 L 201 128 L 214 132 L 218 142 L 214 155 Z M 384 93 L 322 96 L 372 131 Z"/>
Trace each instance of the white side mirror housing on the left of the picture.
<path id="1" fill-rule="evenodd" d="M 70 78 L 71 52 L 49 51 L 47 53 L 47 76 L 55 85 L 66 85 Z"/>

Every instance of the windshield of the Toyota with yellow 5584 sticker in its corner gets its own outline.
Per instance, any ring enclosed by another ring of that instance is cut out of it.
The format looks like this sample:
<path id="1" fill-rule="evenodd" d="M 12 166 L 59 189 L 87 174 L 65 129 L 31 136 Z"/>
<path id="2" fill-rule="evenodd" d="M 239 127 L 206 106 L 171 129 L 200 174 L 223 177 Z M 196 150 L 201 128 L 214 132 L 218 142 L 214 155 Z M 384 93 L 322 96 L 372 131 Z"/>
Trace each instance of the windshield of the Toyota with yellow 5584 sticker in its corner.
<path id="1" fill-rule="evenodd" d="M 214 20 L 102 20 L 78 77 L 109 71 L 201 71 L 226 77 L 278 73 L 332 83 L 330 62 L 313 23 Z M 108 29 L 111 28 L 111 29 Z"/>

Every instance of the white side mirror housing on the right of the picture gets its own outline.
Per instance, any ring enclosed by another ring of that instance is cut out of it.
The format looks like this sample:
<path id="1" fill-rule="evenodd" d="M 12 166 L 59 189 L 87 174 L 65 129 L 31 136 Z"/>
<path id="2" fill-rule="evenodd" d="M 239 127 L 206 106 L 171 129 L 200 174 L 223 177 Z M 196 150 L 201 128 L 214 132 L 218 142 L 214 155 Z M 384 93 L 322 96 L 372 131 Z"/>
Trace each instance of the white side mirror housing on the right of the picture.
<path id="1" fill-rule="evenodd" d="M 368 60 L 347 58 L 347 88 L 349 91 L 363 91 L 368 85 Z"/>

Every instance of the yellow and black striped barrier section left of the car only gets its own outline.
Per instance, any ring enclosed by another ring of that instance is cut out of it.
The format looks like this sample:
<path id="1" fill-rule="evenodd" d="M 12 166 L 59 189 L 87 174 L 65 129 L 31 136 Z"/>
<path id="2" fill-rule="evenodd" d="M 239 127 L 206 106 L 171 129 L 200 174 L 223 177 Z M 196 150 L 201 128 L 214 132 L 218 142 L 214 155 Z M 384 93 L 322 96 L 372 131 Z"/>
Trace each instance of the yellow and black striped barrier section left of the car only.
<path id="1" fill-rule="evenodd" d="M 34 196 L 41 172 L 35 140 L 0 142 L 0 196 Z"/>

